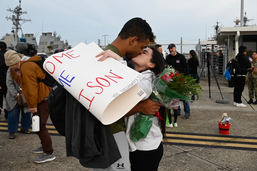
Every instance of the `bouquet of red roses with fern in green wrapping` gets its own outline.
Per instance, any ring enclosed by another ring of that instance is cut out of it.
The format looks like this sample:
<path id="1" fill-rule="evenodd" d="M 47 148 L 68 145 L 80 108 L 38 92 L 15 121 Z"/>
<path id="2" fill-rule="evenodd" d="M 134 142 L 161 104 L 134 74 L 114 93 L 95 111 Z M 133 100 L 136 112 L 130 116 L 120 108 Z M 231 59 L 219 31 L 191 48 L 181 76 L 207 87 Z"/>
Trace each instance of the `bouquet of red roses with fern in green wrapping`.
<path id="1" fill-rule="evenodd" d="M 175 69 L 167 66 L 154 81 L 151 99 L 168 109 L 178 106 L 174 99 L 192 101 L 190 98 L 195 94 L 198 100 L 202 88 L 195 81 L 196 79 L 190 75 L 176 73 Z M 158 114 L 156 113 L 156 115 Z M 132 124 L 130 139 L 136 142 L 141 138 L 146 138 L 151 129 L 152 122 L 153 115 L 140 113 Z"/>

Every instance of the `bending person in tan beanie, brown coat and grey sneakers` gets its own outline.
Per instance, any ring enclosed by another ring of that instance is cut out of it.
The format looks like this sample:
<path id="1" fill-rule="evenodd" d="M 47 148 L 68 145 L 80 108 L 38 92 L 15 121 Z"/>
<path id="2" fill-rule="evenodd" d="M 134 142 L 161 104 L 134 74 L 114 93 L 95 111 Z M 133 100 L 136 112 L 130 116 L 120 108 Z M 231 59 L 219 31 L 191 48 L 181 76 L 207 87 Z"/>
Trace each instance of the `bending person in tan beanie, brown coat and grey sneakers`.
<path id="1" fill-rule="evenodd" d="M 27 105 L 32 113 L 39 114 L 39 128 L 36 132 L 41 140 L 41 146 L 32 151 L 34 153 L 43 153 L 41 156 L 34 158 L 35 163 L 44 163 L 56 158 L 53 152 L 52 139 L 46 128 L 49 118 L 48 95 L 52 87 L 48 87 L 43 82 L 37 80 L 45 79 L 45 71 L 35 62 L 41 60 L 40 56 L 32 56 L 26 61 L 21 58 L 15 51 L 7 51 L 4 55 L 5 63 L 10 67 L 10 75 L 13 80 L 21 85 Z M 20 75 L 14 71 L 20 71 Z"/>

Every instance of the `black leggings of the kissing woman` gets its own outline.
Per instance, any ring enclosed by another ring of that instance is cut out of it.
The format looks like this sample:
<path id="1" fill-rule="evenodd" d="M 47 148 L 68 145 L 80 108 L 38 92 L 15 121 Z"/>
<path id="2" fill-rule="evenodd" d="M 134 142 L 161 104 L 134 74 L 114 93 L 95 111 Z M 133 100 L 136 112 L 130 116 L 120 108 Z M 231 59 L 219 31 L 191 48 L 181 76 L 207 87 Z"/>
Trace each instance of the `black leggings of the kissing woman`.
<path id="1" fill-rule="evenodd" d="M 129 152 L 129 160 L 131 164 L 131 171 L 135 170 L 158 170 L 159 163 L 163 155 L 163 144 L 159 145 L 157 149 L 142 151 L 136 150 Z"/>

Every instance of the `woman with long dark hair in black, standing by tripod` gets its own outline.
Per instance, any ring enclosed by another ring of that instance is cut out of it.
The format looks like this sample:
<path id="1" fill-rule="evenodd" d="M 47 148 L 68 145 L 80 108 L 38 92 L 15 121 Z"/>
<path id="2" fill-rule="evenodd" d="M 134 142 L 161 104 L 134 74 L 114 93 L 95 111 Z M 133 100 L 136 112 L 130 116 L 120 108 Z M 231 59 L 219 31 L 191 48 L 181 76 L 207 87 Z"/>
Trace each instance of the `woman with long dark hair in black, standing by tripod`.
<path id="1" fill-rule="evenodd" d="M 189 74 L 191 74 L 191 77 L 196 79 L 195 82 L 198 83 L 199 77 L 197 74 L 197 68 L 199 66 L 199 60 L 194 50 L 189 51 L 189 57 L 190 59 L 187 61 L 189 67 Z M 195 96 L 193 95 L 191 99 L 195 100 Z"/>

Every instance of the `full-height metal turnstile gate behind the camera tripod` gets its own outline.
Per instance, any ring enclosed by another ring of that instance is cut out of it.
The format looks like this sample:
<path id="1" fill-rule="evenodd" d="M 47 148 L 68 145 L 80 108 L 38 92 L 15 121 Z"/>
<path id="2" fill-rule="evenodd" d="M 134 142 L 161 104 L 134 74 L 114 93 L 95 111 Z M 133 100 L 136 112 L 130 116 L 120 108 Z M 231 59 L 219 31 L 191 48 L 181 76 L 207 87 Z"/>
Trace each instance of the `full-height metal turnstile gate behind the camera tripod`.
<path id="1" fill-rule="evenodd" d="M 222 78 L 227 64 L 227 44 L 226 41 L 200 41 L 199 46 L 199 63 L 200 67 L 198 73 L 203 79 L 208 77 L 207 60 L 213 66 L 210 69 L 210 77 Z M 206 63 L 206 64 L 205 64 Z"/>

